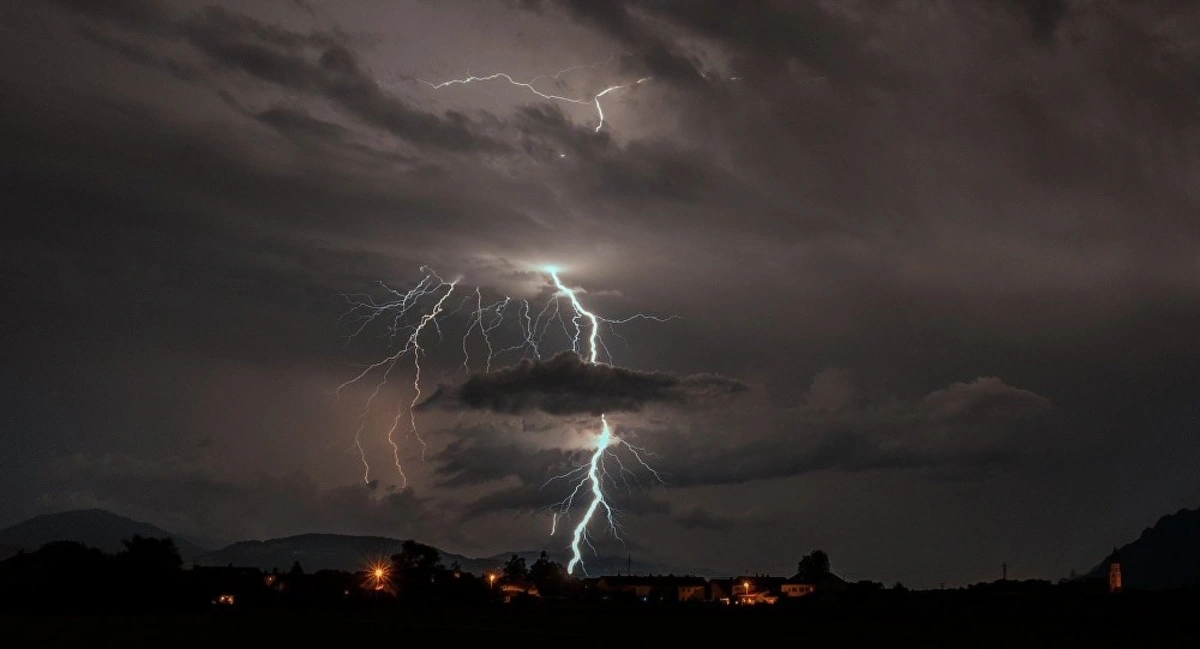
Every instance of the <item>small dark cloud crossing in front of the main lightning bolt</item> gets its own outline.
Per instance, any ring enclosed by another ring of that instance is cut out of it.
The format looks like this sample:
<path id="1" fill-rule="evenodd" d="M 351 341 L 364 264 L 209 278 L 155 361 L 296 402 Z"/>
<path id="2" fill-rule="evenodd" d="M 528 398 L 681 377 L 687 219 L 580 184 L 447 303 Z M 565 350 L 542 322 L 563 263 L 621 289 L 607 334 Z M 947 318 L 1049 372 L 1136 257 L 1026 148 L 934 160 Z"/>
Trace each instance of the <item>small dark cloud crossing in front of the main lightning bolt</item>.
<path id="1" fill-rule="evenodd" d="M 746 385 L 715 374 L 676 377 L 590 363 L 574 351 L 473 374 L 461 385 L 439 387 L 421 407 L 467 408 L 500 414 L 551 415 L 641 410 L 648 404 L 698 407 L 743 392 Z"/>

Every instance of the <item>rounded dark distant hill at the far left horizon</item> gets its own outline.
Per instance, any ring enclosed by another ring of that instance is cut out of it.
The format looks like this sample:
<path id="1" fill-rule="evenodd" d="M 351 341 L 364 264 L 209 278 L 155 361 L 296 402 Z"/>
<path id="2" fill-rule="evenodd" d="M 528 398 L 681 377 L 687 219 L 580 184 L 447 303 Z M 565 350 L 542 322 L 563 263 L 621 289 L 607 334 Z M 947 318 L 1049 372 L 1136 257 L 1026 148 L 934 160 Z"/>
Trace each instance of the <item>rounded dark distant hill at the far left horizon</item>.
<path id="1" fill-rule="evenodd" d="M 118 516 L 104 510 L 74 510 L 35 516 L 0 530 L 0 557 L 18 551 L 34 552 L 52 541 L 76 541 L 108 553 L 125 549 L 124 539 L 134 534 L 155 539 L 173 539 L 185 561 L 208 552 L 206 548 L 162 528 Z"/>

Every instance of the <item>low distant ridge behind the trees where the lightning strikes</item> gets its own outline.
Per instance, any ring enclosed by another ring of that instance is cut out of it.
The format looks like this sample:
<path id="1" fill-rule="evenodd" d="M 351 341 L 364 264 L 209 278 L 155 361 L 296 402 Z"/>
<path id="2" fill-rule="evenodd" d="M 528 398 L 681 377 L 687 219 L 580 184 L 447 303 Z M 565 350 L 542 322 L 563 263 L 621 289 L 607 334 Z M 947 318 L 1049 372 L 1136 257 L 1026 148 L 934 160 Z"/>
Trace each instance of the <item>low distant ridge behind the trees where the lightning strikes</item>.
<path id="1" fill-rule="evenodd" d="M 313 572 L 322 569 L 360 570 L 374 559 L 386 559 L 401 549 L 404 541 L 386 536 L 353 536 L 343 534 L 301 534 L 266 541 L 240 541 L 232 546 L 210 552 L 193 559 L 197 565 L 235 565 L 258 567 L 262 570 L 288 570 L 294 561 L 300 567 Z M 541 555 L 540 551 L 502 552 L 491 557 L 472 558 L 438 549 L 442 563 L 450 566 L 455 563 L 474 575 L 484 575 L 504 567 L 514 554 L 523 558 L 527 565 L 533 565 Z M 565 553 L 550 553 L 550 559 L 566 565 L 570 559 Z M 589 575 L 616 575 L 626 571 L 625 557 L 598 557 L 584 560 Z M 666 575 L 672 570 L 653 563 L 632 561 L 629 564 L 636 575 Z M 708 575 L 701 575 L 708 576 Z"/>

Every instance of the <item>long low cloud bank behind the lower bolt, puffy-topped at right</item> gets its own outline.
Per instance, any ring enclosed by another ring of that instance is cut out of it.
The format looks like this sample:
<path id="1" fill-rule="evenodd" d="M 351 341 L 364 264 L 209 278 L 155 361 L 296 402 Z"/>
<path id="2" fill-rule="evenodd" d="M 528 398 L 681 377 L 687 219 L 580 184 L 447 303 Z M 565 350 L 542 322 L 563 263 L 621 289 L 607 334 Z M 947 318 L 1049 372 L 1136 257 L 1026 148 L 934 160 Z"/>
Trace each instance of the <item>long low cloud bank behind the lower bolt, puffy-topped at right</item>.
<path id="1" fill-rule="evenodd" d="M 622 422 L 614 428 L 618 437 L 632 435 L 636 444 L 654 452 L 652 465 L 670 486 L 685 487 L 817 471 L 956 473 L 1010 467 L 1028 459 L 1026 443 L 1045 432 L 1045 415 L 1052 410 L 1045 397 L 995 377 L 900 399 L 869 393 L 852 374 L 834 368 L 814 379 L 798 407 L 690 413 L 646 425 Z M 473 505 L 478 511 L 533 507 L 538 498 L 542 505 L 552 501 L 547 498 L 554 489 L 546 487 L 553 482 L 547 483 L 547 477 L 578 467 L 583 455 L 530 452 L 520 438 L 506 441 L 487 429 L 456 434 L 460 439 L 434 458 L 449 482 L 511 476 L 521 483 L 478 500 Z M 545 432 L 529 434 L 544 437 Z M 635 491 L 642 493 L 653 483 L 643 480 Z"/>

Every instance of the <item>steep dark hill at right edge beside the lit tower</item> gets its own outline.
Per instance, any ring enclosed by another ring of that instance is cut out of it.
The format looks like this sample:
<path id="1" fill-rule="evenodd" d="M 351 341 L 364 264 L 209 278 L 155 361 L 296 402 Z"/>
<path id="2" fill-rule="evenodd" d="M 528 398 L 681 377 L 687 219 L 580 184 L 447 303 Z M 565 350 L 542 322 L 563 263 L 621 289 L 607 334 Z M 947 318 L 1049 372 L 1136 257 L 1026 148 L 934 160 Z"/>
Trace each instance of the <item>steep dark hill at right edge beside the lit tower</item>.
<path id="1" fill-rule="evenodd" d="M 1166 590 L 1200 585 L 1200 509 L 1180 510 L 1146 528 L 1141 536 L 1117 548 L 1124 588 Z M 1106 578 L 1105 557 L 1090 577 Z"/>

